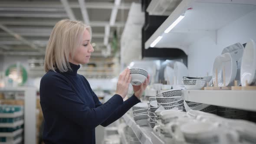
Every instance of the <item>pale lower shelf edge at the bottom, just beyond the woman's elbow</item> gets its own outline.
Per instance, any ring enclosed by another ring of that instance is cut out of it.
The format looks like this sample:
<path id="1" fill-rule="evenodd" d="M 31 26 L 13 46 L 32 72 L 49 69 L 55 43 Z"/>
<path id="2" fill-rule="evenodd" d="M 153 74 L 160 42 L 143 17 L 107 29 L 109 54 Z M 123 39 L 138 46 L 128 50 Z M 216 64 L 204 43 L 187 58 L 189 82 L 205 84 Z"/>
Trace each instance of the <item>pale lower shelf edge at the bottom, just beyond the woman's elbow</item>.
<path id="1" fill-rule="evenodd" d="M 122 118 L 124 118 L 125 123 L 134 131 L 141 144 L 164 144 L 164 142 L 154 134 L 152 128 L 148 126 L 140 127 L 128 114 L 123 115 Z"/>

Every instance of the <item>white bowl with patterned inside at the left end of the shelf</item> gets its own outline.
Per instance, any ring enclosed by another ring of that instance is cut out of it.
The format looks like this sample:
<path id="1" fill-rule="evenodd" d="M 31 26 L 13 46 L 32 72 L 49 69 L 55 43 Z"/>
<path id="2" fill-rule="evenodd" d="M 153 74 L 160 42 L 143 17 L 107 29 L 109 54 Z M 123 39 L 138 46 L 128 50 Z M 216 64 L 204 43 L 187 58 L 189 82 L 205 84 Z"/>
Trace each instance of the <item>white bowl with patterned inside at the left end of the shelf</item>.
<path id="1" fill-rule="evenodd" d="M 182 84 L 187 90 L 200 90 L 206 83 L 205 79 L 183 79 Z"/>

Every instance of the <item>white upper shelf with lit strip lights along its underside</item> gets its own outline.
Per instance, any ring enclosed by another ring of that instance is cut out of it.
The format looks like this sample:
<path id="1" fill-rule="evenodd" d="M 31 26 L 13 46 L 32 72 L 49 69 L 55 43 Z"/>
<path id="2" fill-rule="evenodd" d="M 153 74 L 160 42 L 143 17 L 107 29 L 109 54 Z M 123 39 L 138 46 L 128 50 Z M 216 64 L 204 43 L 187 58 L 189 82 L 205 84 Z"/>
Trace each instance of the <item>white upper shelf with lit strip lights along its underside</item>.
<path id="1" fill-rule="evenodd" d="M 218 30 L 256 10 L 255 0 L 183 0 L 146 41 L 145 49 L 163 36 L 155 48 L 179 48 L 188 54 L 188 47 L 206 35 L 217 43 Z M 182 14 L 185 17 L 169 33 L 164 31 Z"/>

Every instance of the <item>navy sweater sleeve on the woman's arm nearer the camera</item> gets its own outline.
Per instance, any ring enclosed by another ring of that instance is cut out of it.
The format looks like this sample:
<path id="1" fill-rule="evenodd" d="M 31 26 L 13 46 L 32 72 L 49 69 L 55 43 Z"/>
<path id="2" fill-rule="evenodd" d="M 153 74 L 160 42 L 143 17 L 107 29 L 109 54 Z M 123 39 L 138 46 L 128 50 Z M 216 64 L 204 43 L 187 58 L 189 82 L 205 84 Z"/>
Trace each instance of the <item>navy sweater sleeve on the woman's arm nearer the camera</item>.
<path id="1" fill-rule="evenodd" d="M 120 95 L 114 95 L 104 105 L 89 108 L 62 75 L 45 75 L 40 82 L 40 101 L 81 127 L 95 128 L 108 119 L 113 109 L 123 104 Z M 46 114 L 47 115 L 47 114 Z"/>

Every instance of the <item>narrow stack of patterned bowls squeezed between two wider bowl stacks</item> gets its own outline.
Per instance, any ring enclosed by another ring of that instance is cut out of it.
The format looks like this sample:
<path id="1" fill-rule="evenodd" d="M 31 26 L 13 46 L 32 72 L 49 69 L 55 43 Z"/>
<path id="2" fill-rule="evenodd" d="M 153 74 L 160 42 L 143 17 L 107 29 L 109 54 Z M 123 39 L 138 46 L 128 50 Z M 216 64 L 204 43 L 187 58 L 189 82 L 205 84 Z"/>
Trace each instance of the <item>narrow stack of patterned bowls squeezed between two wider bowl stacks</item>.
<path id="1" fill-rule="evenodd" d="M 158 102 L 157 101 L 151 101 L 149 103 L 149 112 L 148 112 L 148 125 L 151 128 L 154 128 L 155 124 L 158 121 L 157 116 L 155 115 L 155 111 L 158 109 Z"/>

